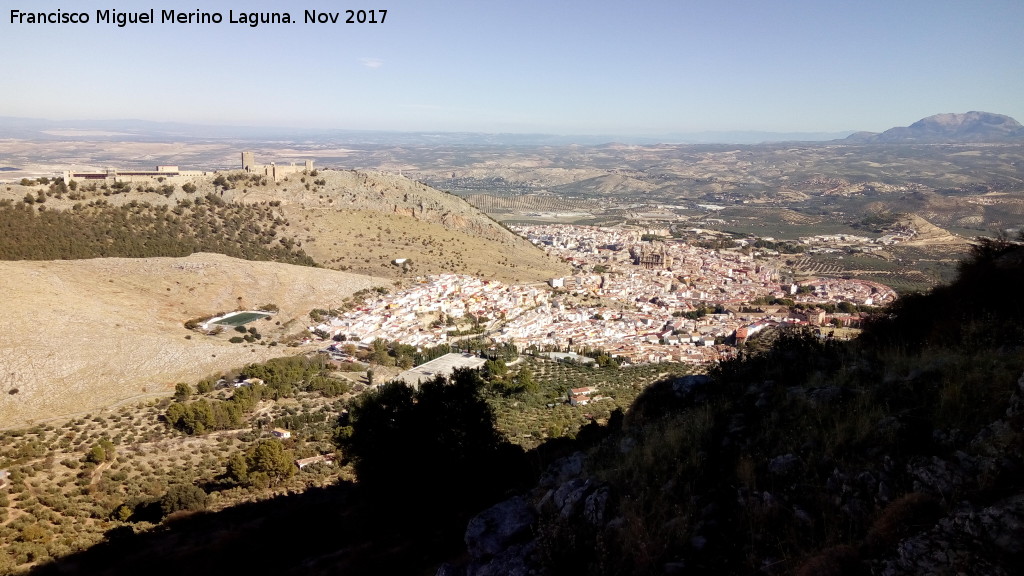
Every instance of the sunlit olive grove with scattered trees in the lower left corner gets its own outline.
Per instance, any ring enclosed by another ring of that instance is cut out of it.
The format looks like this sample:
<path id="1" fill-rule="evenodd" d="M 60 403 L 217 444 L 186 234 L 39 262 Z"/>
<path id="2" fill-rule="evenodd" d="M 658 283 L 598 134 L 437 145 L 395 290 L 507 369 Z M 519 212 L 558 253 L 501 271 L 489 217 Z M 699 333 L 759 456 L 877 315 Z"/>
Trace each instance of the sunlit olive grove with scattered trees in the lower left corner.
<path id="1" fill-rule="evenodd" d="M 163 420 L 170 403 L 151 401 L 3 433 L 0 466 L 10 476 L 0 488 L 0 573 L 83 550 L 122 527 L 151 530 L 161 521 L 161 499 L 175 487 L 200 487 L 206 507 L 219 509 L 332 484 L 346 474 L 310 466 L 273 486 L 238 486 L 224 478 L 228 459 L 270 439 L 272 427 L 293 428 L 282 446 L 296 457 L 333 450 L 337 411 L 315 395 L 264 403 L 243 428 L 196 437 Z"/>

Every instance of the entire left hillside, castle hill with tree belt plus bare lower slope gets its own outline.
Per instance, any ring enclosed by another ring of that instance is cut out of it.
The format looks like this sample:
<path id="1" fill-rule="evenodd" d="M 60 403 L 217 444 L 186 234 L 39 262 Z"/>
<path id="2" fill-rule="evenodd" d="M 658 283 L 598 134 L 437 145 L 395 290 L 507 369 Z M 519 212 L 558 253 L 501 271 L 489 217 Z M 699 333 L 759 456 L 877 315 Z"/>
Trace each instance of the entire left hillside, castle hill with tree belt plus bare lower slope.
<path id="1" fill-rule="evenodd" d="M 290 323 L 372 285 L 565 272 L 465 201 L 384 173 L 33 181 L 3 188 L 0 231 L 0 257 L 22 260 L 0 261 L 8 327 L 0 383 L 16 390 L 4 397 L 0 426 L 166 395 L 176 381 L 280 356 L 284 348 L 265 344 L 301 330 Z M 261 345 L 185 339 L 190 318 L 265 303 L 280 306 L 288 329 L 263 330 Z"/>

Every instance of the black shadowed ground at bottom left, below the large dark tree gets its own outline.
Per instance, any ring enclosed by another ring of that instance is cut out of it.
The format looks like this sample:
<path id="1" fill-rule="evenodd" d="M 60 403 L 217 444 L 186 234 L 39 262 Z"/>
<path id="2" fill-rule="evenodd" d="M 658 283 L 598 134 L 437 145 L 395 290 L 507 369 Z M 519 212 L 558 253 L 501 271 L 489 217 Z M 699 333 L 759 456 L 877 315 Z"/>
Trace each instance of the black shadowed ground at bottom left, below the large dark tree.
<path id="1" fill-rule="evenodd" d="M 422 574 L 457 553 L 451 523 L 464 519 L 413 523 L 359 494 L 342 484 L 170 519 L 140 534 L 121 527 L 33 574 Z"/>

